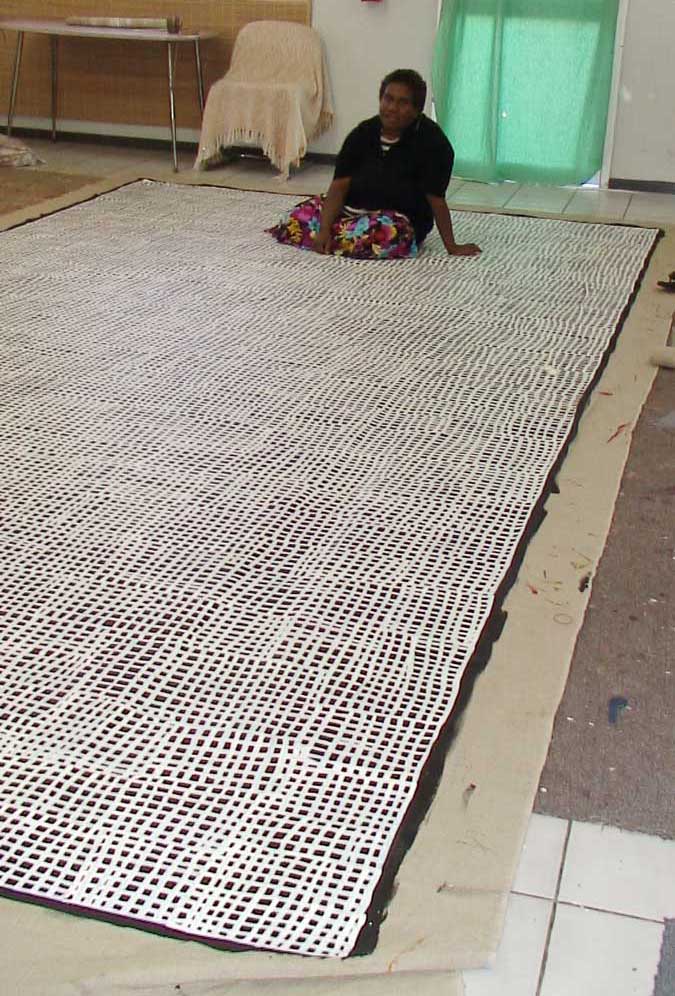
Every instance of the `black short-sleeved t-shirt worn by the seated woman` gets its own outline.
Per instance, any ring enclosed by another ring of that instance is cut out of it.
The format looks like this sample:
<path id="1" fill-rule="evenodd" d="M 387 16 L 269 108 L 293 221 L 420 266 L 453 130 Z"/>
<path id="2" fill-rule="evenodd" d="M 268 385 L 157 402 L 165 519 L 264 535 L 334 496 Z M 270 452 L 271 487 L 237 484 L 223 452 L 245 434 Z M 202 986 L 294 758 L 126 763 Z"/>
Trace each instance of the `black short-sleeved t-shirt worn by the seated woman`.
<path id="1" fill-rule="evenodd" d="M 335 179 L 351 177 L 350 207 L 400 211 L 410 218 L 421 242 L 434 226 L 426 195 L 445 197 L 455 153 L 442 129 L 424 114 L 386 152 L 381 129 L 376 116 L 347 135 L 335 163 Z"/>

